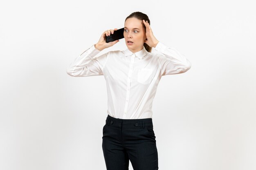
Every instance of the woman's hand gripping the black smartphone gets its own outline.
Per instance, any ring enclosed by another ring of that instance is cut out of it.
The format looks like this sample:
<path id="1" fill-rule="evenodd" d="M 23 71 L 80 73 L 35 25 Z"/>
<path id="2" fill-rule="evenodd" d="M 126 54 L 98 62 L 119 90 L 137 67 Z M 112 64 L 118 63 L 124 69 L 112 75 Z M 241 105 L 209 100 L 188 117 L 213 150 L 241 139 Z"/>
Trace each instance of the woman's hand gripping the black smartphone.
<path id="1" fill-rule="evenodd" d="M 101 51 L 101 50 L 106 49 L 106 48 L 108 48 L 110 46 L 113 46 L 114 44 L 119 42 L 119 40 L 115 40 L 115 41 L 112 41 L 112 42 L 106 42 L 106 36 L 109 36 L 110 33 L 113 34 L 114 31 L 116 31 L 116 30 L 117 30 L 117 28 L 104 31 L 101 34 L 101 38 L 99 39 L 99 42 L 97 44 L 94 44 L 94 47 L 96 49 L 98 49 L 99 51 Z"/>

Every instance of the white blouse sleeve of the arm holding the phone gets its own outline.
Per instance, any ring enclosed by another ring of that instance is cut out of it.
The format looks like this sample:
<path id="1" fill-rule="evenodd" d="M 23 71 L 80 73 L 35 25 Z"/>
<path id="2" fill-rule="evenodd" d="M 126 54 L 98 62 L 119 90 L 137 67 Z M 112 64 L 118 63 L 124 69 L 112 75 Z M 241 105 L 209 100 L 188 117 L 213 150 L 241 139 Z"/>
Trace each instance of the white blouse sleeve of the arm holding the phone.
<path id="1" fill-rule="evenodd" d="M 95 57 L 99 52 L 93 44 L 67 67 L 67 74 L 74 77 L 103 75 L 103 68 L 108 60 L 109 52 Z"/>

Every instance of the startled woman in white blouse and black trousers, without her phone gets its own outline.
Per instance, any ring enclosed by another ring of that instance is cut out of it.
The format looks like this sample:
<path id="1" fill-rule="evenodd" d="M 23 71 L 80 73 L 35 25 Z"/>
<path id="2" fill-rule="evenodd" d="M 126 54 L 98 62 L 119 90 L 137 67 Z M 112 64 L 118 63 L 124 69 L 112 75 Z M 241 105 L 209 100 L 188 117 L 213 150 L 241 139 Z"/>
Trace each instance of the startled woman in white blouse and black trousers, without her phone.
<path id="1" fill-rule="evenodd" d="M 148 16 L 141 12 L 131 13 L 125 20 L 126 50 L 95 57 L 119 42 L 106 43 L 106 36 L 116 30 L 104 31 L 97 44 L 76 57 L 67 74 L 104 75 L 106 79 L 108 116 L 103 126 L 102 149 L 107 170 L 128 170 L 129 160 L 134 170 L 158 170 L 153 98 L 163 75 L 184 73 L 191 68 L 191 62 L 159 42 Z"/>

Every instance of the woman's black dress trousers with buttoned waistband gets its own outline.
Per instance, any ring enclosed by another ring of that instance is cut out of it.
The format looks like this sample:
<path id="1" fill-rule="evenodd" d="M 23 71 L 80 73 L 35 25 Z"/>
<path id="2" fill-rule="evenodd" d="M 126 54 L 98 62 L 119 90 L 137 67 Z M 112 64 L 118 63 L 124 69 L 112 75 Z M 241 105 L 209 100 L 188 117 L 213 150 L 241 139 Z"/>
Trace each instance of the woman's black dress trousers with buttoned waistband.
<path id="1" fill-rule="evenodd" d="M 158 170 L 152 118 L 118 119 L 108 115 L 102 149 L 107 170 Z"/>

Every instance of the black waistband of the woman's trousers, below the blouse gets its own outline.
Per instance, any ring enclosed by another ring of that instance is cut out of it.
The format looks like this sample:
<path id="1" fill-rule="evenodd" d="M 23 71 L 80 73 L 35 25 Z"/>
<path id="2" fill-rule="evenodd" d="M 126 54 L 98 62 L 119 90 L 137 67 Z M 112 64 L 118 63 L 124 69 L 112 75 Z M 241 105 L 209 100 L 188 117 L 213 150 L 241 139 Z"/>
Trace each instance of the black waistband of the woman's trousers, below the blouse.
<path id="1" fill-rule="evenodd" d="M 152 118 L 146 119 L 119 119 L 108 115 L 106 125 L 118 128 L 145 128 L 153 127 Z"/>

